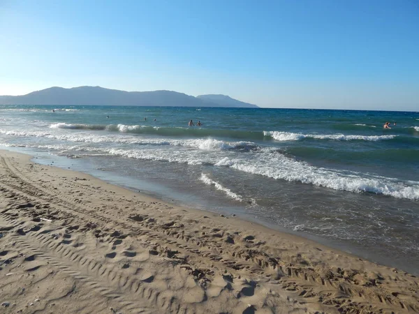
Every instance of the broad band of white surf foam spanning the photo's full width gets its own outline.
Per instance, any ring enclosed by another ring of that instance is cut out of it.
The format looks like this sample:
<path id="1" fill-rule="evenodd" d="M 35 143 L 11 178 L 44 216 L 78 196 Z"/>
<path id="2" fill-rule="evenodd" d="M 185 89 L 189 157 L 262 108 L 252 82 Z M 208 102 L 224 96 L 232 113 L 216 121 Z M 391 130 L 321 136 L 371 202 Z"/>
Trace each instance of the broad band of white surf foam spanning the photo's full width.
<path id="1" fill-rule="evenodd" d="M 68 141 L 50 149 L 92 151 L 98 154 L 124 156 L 142 160 L 161 160 L 189 165 L 216 165 L 258 174 L 273 179 L 298 181 L 335 190 L 354 193 L 370 192 L 392 197 L 419 200 L 418 181 L 399 181 L 374 174 L 314 167 L 308 163 L 288 158 L 273 148 L 260 149 L 254 154 L 236 154 L 230 149 L 254 144 L 250 142 L 224 142 L 214 139 L 168 140 L 167 138 L 142 138 L 128 134 L 91 134 L 85 131 L 59 133 L 45 131 L 0 130 L 6 135 L 36 136 Z M 82 144 L 75 144 L 82 142 Z M 89 144 L 91 143 L 91 144 Z M 101 147 L 94 143 L 102 143 Z M 24 144 L 19 141 L 19 144 Z M 34 144 L 34 142 L 31 142 Z M 39 147 L 42 143 L 35 145 Z M 131 145 L 141 144 L 141 147 Z"/>

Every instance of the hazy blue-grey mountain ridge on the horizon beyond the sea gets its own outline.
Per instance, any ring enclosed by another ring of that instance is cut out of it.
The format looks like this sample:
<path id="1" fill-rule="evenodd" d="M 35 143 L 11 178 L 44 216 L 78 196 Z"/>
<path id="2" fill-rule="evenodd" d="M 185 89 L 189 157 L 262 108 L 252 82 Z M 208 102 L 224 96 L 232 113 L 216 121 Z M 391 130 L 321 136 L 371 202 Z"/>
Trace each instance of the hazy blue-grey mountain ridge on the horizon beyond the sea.
<path id="1" fill-rule="evenodd" d="M 138 105 L 172 107 L 257 107 L 228 96 L 216 99 L 176 91 L 119 91 L 103 87 L 50 87 L 22 96 L 0 96 L 0 105 Z"/>

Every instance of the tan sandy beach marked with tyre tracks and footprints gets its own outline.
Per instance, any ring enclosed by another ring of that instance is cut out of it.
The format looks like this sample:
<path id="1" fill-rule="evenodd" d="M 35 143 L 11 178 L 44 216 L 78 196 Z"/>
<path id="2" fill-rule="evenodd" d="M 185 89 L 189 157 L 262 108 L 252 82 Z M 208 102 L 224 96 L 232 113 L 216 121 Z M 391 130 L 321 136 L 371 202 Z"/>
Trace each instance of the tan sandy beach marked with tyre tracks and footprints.
<path id="1" fill-rule="evenodd" d="M 0 313 L 418 313 L 418 283 L 0 151 Z"/>

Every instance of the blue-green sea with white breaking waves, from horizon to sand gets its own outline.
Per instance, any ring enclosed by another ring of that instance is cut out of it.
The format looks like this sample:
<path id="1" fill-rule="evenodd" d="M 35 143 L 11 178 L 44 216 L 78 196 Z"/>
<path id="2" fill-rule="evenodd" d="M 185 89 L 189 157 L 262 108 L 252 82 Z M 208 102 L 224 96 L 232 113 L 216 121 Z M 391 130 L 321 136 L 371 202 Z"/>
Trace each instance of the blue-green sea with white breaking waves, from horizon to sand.
<path id="1" fill-rule="evenodd" d="M 2 105 L 0 148 L 419 274 L 419 112 Z"/>

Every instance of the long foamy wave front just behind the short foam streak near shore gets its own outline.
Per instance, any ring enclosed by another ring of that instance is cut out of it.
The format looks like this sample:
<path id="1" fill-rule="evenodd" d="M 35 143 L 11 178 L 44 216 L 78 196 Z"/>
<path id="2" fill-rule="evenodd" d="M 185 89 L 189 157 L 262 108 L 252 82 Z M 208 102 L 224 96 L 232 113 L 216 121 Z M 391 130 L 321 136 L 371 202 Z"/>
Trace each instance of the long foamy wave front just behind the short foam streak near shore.
<path id="1" fill-rule="evenodd" d="M 215 142 L 216 143 L 216 142 Z M 205 145 L 212 144 L 207 143 Z M 219 148 L 219 143 L 215 147 Z M 41 147 L 38 145 L 37 147 Z M 91 151 L 94 154 L 105 156 L 121 156 L 139 160 L 158 160 L 169 163 L 186 163 L 188 165 L 209 165 L 216 167 L 231 167 L 235 170 L 250 174 L 270 177 L 302 184 L 312 184 L 323 188 L 345 190 L 353 193 L 375 193 L 409 200 L 419 200 L 419 182 L 401 181 L 395 178 L 381 177 L 376 174 L 334 170 L 325 167 L 316 167 L 300 160 L 289 158 L 279 151 L 261 149 L 258 154 L 249 154 L 247 158 L 238 156 L 220 156 L 220 151 L 202 149 L 191 150 L 172 149 L 164 147 L 150 147 L 149 149 L 126 149 L 117 147 L 87 147 L 86 145 L 60 144 L 56 147 L 45 146 L 47 149 L 59 151 Z"/>

